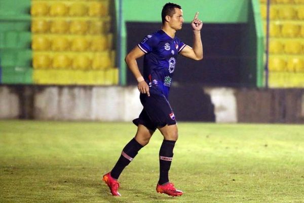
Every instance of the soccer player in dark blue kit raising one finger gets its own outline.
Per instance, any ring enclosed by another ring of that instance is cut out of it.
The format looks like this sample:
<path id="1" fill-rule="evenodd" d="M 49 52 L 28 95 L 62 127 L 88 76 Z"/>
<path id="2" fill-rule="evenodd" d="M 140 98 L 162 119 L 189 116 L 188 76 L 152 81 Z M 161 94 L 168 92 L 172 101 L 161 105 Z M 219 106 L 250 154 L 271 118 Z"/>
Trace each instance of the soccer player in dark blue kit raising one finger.
<path id="1" fill-rule="evenodd" d="M 110 188 L 112 195 L 120 196 L 118 192 L 120 174 L 138 151 L 148 144 L 156 129 L 159 129 L 164 136 L 159 152 L 160 178 L 156 190 L 158 193 L 170 196 L 182 195 L 182 191 L 177 190 L 168 177 L 173 148 L 178 138 L 176 120 L 168 101 L 168 94 L 177 55 L 194 60 L 203 58 L 200 33 L 203 23 L 196 13 L 191 23 L 193 47 L 189 47 L 175 37 L 175 32 L 182 28 L 184 22 L 179 5 L 165 4 L 162 10 L 162 22 L 160 30 L 147 35 L 125 58 L 129 69 L 137 79 L 143 110 L 139 117 L 133 120 L 133 123 L 138 126 L 135 137 L 124 147 L 112 170 L 103 176 L 103 181 Z M 143 76 L 136 62 L 136 59 L 142 56 L 144 56 Z"/>

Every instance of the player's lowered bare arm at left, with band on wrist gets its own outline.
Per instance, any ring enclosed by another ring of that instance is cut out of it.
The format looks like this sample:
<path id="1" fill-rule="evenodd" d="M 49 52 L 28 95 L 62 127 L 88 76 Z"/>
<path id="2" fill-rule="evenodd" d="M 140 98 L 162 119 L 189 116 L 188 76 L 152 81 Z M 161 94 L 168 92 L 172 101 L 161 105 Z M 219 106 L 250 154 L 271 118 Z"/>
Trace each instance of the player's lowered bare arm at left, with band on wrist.
<path id="1" fill-rule="evenodd" d="M 140 58 L 144 55 L 145 53 L 139 49 L 138 46 L 136 46 L 134 49 L 132 49 L 126 56 L 125 61 L 129 67 L 129 69 L 131 70 L 131 72 L 133 73 L 134 77 L 136 78 L 137 82 L 138 82 L 138 90 L 143 93 L 143 94 L 147 94 L 148 96 L 150 96 L 149 93 L 149 86 L 148 84 L 144 81 L 138 65 L 137 65 L 137 58 Z"/>

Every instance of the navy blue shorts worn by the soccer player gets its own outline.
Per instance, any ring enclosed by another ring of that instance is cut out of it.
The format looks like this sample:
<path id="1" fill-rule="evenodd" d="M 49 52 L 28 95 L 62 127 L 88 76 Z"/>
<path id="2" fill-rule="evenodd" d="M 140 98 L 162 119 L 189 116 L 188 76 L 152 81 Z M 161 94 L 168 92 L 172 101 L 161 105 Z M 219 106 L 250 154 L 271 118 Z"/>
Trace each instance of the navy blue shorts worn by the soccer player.
<path id="1" fill-rule="evenodd" d="M 156 128 L 176 124 L 174 113 L 165 95 L 150 92 L 150 96 L 140 94 L 139 98 L 143 110 L 139 117 L 133 120 L 135 125 L 142 124 L 155 131 Z"/>

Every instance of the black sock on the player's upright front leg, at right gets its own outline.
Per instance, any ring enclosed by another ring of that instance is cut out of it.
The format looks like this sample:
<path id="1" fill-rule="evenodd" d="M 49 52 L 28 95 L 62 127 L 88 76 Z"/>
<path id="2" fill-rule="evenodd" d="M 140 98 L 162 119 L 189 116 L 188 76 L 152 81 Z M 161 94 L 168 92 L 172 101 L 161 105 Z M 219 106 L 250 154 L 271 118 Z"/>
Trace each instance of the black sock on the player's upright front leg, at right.
<path id="1" fill-rule="evenodd" d="M 159 184 L 169 182 L 169 170 L 173 158 L 175 141 L 164 140 L 160 149 L 160 180 Z"/>

